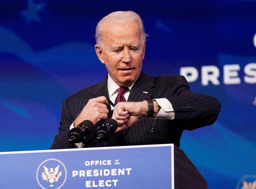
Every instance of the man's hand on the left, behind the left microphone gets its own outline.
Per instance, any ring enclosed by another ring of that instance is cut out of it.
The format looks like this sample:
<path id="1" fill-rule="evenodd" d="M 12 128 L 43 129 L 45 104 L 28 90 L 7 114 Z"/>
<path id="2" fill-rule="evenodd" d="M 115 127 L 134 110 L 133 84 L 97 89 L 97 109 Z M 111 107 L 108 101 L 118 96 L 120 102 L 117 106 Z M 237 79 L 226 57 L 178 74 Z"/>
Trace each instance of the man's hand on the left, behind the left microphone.
<path id="1" fill-rule="evenodd" d="M 103 103 L 108 103 L 107 98 L 104 96 L 90 99 L 81 113 L 77 116 L 74 122 L 74 127 L 77 127 L 77 125 L 84 120 L 90 120 L 93 125 L 95 125 L 100 120 L 107 119 L 108 108 Z"/>

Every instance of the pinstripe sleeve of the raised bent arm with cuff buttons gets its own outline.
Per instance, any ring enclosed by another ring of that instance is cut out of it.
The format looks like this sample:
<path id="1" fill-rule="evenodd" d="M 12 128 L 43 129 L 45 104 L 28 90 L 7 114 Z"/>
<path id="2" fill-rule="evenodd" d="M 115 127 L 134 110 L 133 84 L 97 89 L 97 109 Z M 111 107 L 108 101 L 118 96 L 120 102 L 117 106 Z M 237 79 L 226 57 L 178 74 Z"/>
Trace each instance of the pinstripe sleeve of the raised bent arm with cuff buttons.
<path id="1" fill-rule="evenodd" d="M 179 76 L 172 86 L 172 96 L 166 97 L 175 112 L 174 120 L 184 126 L 184 130 L 194 130 L 212 125 L 220 112 L 219 101 L 209 95 L 194 93 L 184 76 Z"/>

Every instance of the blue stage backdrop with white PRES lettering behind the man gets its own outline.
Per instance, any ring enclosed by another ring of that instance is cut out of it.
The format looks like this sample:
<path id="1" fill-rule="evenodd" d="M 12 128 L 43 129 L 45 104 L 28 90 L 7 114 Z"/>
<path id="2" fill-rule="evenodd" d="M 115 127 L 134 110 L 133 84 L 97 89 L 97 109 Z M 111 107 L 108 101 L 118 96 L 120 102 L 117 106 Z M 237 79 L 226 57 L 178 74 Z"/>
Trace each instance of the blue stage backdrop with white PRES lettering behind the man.
<path id="1" fill-rule="evenodd" d="M 217 122 L 184 131 L 180 148 L 209 189 L 240 188 L 241 177 L 256 175 L 253 0 L 1 0 L 0 151 L 51 146 L 62 101 L 107 75 L 93 35 L 98 21 L 118 10 L 133 10 L 144 21 L 148 75 L 192 67 L 191 91 L 219 99 Z"/>

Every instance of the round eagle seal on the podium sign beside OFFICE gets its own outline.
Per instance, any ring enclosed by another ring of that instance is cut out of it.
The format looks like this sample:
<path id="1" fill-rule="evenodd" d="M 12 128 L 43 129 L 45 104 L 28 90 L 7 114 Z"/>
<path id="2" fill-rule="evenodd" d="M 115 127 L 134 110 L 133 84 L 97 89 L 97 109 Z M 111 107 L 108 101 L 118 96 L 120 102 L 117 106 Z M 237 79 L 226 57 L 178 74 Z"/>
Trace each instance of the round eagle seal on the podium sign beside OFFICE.
<path id="1" fill-rule="evenodd" d="M 67 169 L 58 159 L 44 160 L 36 170 L 36 180 L 43 189 L 59 189 L 67 179 Z"/>

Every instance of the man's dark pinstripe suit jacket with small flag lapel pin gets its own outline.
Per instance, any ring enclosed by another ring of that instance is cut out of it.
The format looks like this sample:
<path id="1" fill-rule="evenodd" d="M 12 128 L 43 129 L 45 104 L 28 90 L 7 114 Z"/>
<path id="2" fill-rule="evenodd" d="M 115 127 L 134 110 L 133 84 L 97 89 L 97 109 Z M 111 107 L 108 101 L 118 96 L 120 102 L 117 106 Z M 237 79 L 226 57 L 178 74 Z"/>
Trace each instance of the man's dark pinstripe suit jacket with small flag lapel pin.
<path id="1" fill-rule="evenodd" d="M 148 91 L 148 94 L 143 91 Z M 64 100 L 59 135 L 55 136 L 51 149 L 68 148 L 67 136 L 70 125 L 88 100 L 99 96 L 108 98 L 107 78 Z M 187 80 L 179 75 L 151 77 L 141 71 L 128 101 L 139 102 L 149 98 L 167 98 L 175 111 L 174 120 L 156 120 L 154 132 L 151 132 L 154 119 L 142 117 L 126 131 L 124 145 L 174 143 L 180 146 L 183 130 L 212 125 L 220 112 L 220 103 L 216 98 L 189 91 Z M 100 121 L 98 124 L 102 123 L 103 121 Z"/>

